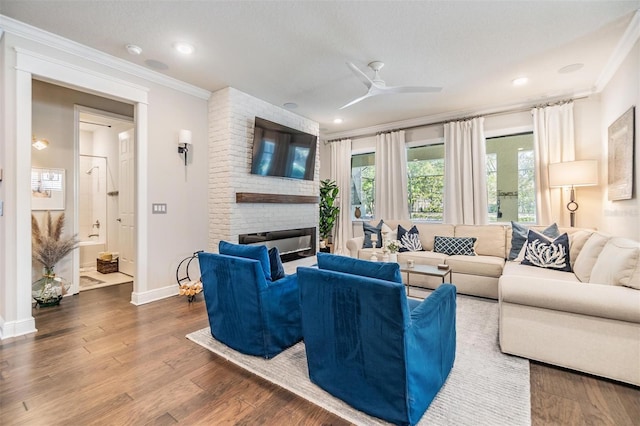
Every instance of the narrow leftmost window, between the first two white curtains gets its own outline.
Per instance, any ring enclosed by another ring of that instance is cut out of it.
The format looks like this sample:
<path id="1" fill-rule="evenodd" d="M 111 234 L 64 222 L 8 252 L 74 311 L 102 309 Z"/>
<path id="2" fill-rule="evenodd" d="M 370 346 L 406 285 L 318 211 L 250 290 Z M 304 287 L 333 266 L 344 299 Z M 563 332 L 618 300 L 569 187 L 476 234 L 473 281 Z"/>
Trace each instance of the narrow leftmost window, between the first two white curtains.
<path id="1" fill-rule="evenodd" d="M 351 219 L 373 219 L 376 154 L 351 156 Z"/>

